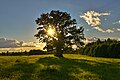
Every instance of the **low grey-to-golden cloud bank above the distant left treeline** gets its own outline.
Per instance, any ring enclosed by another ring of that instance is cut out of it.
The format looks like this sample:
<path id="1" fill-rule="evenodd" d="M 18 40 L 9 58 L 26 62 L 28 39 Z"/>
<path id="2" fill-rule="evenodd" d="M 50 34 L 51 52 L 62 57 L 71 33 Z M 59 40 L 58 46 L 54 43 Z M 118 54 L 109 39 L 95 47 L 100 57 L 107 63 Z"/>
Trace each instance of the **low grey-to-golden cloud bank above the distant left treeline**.
<path id="1" fill-rule="evenodd" d="M 42 49 L 44 46 L 44 43 L 24 42 L 15 39 L 0 38 L 0 48 L 40 47 L 40 49 Z"/>

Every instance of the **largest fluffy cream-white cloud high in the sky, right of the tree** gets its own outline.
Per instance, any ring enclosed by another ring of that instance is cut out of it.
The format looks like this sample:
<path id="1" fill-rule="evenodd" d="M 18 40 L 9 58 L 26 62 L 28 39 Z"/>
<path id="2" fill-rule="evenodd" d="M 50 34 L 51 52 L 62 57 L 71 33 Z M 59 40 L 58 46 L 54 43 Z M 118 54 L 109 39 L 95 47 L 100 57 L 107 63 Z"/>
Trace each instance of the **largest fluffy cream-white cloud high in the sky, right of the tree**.
<path id="1" fill-rule="evenodd" d="M 83 18 L 88 25 L 98 26 L 101 24 L 100 16 L 108 16 L 110 13 L 99 13 L 95 11 L 87 11 L 84 15 L 81 15 L 80 18 Z"/>

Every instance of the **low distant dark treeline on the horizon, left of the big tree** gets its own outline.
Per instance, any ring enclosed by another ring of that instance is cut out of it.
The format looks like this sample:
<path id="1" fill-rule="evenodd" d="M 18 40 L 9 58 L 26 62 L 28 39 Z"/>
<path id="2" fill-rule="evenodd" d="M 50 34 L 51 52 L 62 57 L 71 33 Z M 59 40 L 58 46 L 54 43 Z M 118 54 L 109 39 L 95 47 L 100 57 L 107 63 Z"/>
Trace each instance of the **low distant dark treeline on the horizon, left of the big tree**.
<path id="1" fill-rule="evenodd" d="M 24 52 L 2 52 L 0 53 L 0 56 L 22 56 L 22 55 L 44 55 L 44 54 L 50 54 L 47 53 L 46 51 L 42 50 L 30 50 L 30 51 L 24 51 Z"/>

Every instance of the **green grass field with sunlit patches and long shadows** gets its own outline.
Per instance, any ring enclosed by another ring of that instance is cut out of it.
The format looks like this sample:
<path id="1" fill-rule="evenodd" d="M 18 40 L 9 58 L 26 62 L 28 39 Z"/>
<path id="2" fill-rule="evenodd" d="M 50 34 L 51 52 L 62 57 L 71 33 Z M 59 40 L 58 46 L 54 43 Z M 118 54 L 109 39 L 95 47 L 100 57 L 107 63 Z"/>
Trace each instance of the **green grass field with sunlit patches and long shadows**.
<path id="1" fill-rule="evenodd" d="M 0 80 L 120 80 L 120 59 L 64 57 L 0 56 Z"/>

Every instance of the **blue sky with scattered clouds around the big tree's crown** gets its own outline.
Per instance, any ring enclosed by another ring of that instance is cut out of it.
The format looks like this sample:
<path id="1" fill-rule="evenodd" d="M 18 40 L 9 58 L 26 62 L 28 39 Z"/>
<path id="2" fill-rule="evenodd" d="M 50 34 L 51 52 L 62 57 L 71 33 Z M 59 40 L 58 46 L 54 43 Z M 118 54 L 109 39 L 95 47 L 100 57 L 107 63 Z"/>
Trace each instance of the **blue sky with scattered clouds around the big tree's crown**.
<path id="1" fill-rule="evenodd" d="M 35 41 L 35 20 L 51 10 L 70 13 L 87 38 L 120 38 L 119 4 L 120 0 L 0 0 L 0 38 Z"/>

